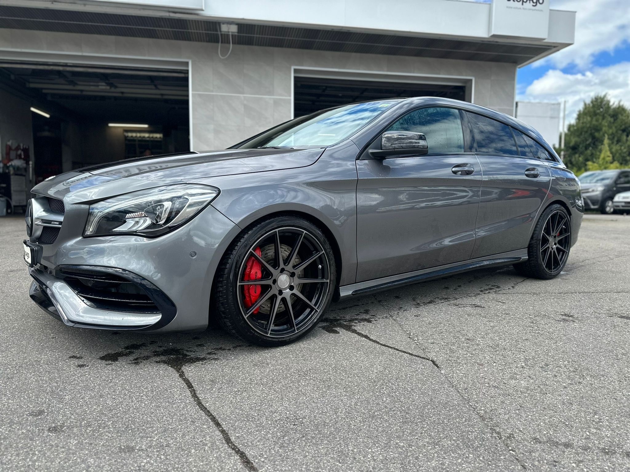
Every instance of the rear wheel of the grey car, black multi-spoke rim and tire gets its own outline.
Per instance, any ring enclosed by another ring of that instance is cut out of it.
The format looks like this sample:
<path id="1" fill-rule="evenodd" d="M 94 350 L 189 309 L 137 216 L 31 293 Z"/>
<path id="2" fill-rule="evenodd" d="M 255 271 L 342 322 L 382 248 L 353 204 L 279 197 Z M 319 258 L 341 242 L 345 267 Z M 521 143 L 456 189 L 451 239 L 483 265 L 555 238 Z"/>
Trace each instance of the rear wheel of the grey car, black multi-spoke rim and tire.
<path id="1" fill-rule="evenodd" d="M 514 264 L 524 276 L 553 279 L 564 269 L 571 250 L 571 218 L 562 205 L 542 212 L 527 246 L 527 261 Z"/>

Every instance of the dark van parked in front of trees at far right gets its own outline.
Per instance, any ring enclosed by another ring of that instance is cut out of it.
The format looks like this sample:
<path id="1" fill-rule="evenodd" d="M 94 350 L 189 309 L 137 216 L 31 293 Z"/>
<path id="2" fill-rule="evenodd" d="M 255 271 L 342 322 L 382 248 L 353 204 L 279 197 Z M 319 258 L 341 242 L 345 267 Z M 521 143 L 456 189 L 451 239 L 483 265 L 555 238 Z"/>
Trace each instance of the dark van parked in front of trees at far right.
<path id="1" fill-rule="evenodd" d="M 610 215 L 615 212 L 615 195 L 630 191 L 630 169 L 584 172 L 580 185 L 585 209 Z"/>

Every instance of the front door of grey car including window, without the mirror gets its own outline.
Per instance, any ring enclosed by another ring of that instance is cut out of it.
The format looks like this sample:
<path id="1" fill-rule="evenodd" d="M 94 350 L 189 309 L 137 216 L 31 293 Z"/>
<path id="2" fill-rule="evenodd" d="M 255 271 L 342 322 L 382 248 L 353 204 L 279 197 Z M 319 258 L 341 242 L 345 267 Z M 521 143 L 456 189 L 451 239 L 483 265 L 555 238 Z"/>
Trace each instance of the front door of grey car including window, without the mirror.
<path id="1" fill-rule="evenodd" d="M 424 133 L 428 154 L 357 160 L 357 282 L 466 261 L 481 167 L 467 152 L 461 112 L 420 108 L 384 131 Z"/>

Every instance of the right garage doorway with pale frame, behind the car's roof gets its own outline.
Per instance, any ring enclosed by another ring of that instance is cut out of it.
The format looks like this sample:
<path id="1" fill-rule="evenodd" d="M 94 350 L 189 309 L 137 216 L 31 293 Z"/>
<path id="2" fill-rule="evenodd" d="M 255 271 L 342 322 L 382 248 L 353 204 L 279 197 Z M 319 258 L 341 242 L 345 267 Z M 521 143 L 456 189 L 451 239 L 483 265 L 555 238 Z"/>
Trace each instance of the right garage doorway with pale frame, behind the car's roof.
<path id="1" fill-rule="evenodd" d="M 357 101 L 433 96 L 471 101 L 472 79 L 426 78 L 384 74 L 340 74 L 336 71 L 295 70 L 294 116 Z"/>

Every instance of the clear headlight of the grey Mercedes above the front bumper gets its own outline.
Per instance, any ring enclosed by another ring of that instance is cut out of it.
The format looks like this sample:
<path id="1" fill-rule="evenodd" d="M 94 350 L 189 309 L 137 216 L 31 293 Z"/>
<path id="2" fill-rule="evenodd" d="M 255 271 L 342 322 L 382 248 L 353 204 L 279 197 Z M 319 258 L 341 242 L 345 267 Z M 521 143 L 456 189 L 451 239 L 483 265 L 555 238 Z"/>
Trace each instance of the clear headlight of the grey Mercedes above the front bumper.
<path id="1" fill-rule="evenodd" d="M 183 225 L 218 194 L 207 185 L 176 184 L 119 195 L 89 206 L 84 235 L 156 237 Z"/>

